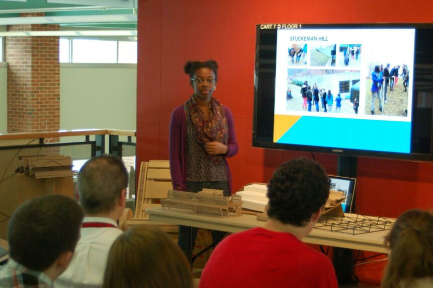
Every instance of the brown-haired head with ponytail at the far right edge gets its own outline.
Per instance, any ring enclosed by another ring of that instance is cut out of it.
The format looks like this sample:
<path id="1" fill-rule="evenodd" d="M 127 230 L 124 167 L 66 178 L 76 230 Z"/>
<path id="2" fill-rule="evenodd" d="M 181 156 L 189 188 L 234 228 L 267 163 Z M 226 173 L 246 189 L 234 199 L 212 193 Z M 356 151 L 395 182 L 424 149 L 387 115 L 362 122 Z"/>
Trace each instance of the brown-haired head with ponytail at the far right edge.
<path id="1" fill-rule="evenodd" d="M 429 279 L 433 284 L 433 215 L 412 209 L 400 215 L 385 239 L 389 263 L 382 286 L 415 287 L 414 282 Z"/>

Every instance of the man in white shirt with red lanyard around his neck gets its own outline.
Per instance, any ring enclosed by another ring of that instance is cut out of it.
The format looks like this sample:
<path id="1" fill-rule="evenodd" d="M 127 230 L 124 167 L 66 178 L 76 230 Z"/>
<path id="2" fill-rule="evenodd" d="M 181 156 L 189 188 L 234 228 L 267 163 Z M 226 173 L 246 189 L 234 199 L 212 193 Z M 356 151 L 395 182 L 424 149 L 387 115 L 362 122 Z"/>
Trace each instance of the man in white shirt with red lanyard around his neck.
<path id="1" fill-rule="evenodd" d="M 78 174 L 77 197 L 85 218 L 74 258 L 55 281 L 56 288 L 100 287 L 108 252 L 122 234 L 117 227 L 126 201 L 128 173 L 120 159 L 99 156 L 87 161 Z"/>

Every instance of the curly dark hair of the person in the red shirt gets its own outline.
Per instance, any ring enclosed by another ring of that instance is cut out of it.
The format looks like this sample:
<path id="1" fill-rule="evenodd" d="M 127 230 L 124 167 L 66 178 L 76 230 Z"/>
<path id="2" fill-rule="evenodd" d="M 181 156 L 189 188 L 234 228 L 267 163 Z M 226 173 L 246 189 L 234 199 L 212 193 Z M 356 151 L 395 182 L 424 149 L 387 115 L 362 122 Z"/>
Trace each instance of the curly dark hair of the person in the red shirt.
<path id="1" fill-rule="evenodd" d="M 329 196 L 331 180 L 323 167 L 310 159 L 295 158 L 275 170 L 267 185 L 269 218 L 303 227 Z"/>

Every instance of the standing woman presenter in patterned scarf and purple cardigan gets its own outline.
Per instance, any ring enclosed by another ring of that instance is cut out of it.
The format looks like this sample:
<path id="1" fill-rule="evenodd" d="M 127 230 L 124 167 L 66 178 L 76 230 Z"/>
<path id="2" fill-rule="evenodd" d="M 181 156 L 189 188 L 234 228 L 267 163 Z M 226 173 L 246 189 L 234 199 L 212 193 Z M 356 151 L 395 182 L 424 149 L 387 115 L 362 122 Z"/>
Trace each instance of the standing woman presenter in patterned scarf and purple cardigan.
<path id="1" fill-rule="evenodd" d="M 238 152 L 233 115 L 229 108 L 212 97 L 216 90 L 218 64 L 188 61 L 184 67 L 191 97 L 173 110 L 170 120 L 169 159 L 173 189 L 198 192 L 203 188 L 231 192 L 231 173 L 226 161 Z M 192 247 L 197 229 L 192 229 Z M 179 226 L 178 244 L 189 257 L 188 227 Z M 212 232 L 214 241 L 224 233 Z"/>

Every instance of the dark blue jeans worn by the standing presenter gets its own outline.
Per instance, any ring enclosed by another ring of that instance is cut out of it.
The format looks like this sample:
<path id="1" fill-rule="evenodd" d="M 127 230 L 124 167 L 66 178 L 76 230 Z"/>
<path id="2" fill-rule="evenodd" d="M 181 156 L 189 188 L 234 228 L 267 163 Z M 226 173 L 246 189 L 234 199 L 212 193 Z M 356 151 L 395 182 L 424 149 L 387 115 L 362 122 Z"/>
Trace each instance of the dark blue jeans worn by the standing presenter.
<path id="1" fill-rule="evenodd" d="M 186 191 L 188 192 L 199 192 L 203 188 L 218 189 L 224 191 L 224 196 L 230 196 L 229 183 L 227 181 L 213 181 L 213 182 L 186 182 Z M 192 250 L 195 246 L 195 239 L 197 238 L 197 228 L 179 225 L 179 238 L 177 244 L 180 249 L 185 253 L 186 258 L 190 259 Z M 212 241 L 215 242 L 220 238 L 223 238 L 226 232 L 212 230 Z M 189 237 L 191 236 L 191 246 L 189 244 Z"/>

